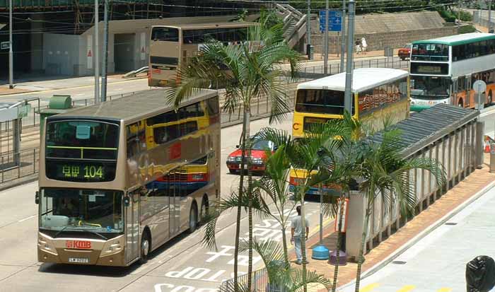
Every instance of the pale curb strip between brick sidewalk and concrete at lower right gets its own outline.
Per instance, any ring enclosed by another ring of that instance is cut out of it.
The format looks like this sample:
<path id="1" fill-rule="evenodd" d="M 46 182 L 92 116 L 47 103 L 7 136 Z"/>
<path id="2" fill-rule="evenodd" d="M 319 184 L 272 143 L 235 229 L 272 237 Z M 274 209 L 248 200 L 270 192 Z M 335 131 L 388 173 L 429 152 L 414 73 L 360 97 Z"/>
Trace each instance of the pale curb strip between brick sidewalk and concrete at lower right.
<path id="1" fill-rule="evenodd" d="M 412 247 L 412 245 L 416 244 L 419 240 L 423 239 L 426 235 L 429 235 L 433 230 L 438 228 L 439 226 L 443 225 L 443 223 L 447 222 L 450 218 L 458 214 L 462 209 L 465 209 L 467 206 L 472 204 L 472 202 L 476 201 L 479 199 L 479 197 L 482 197 L 484 194 L 486 194 L 490 189 L 495 187 L 495 181 L 490 182 L 489 185 L 485 186 L 482 190 L 477 192 L 477 194 L 474 194 L 474 196 L 470 197 L 470 199 L 467 199 L 467 201 L 463 202 L 459 206 L 455 207 L 452 211 L 448 212 L 448 214 L 445 214 L 442 218 L 438 219 L 435 223 L 431 224 L 428 226 L 425 230 L 421 231 L 418 235 L 414 236 L 411 240 L 409 240 L 407 243 L 399 247 L 399 249 L 395 250 L 395 252 L 392 252 L 387 258 L 383 259 L 381 262 L 378 262 L 378 264 L 375 264 L 373 267 L 370 269 L 364 271 L 361 274 L 361 279 L 365 279 L 367 276 L 371 276 L 372 274 L 375 274 L 375 272 L 379 271 L 383 267 L 385 267 L 387 264 L 392 262 L 395 258 L 399 257 L 404 253 L 406 250 L 409 250 L 409 247 Z M 339 286 L 337 288 L 343 289 L 347 288 L 349 286 L 352 286 L 356 283 L 356 279 L 350 281 L 347 284 L 344 284 L 342 286 Z"/>

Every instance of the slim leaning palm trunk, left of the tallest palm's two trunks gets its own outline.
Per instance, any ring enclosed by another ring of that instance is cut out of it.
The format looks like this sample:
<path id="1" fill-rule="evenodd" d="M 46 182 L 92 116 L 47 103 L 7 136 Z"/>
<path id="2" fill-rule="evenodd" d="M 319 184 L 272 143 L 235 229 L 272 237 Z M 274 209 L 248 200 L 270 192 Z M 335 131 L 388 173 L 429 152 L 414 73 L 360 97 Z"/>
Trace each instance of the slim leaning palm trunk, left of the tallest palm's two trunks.
<path id="1" fill-rule="evenodd" d="M 234 249 L 234 291 L 239 291 L 238 284 L 238 258 L 239 258 L 239 238 L 240 238 L 240 216 L 243 210 L 242 202 L 243 202 L 243 186 L 244 186 L 244 165 L 245 165 L 245 148 L 246 148 L 246 119 L 245 115 L 243 117 L 243 132 L 240 136 L 240 177 L 239 177 L 239 194 L 238 194 L 238 206 L 237 206 L 237 218 L 235 225 L 235 249 Z"/>

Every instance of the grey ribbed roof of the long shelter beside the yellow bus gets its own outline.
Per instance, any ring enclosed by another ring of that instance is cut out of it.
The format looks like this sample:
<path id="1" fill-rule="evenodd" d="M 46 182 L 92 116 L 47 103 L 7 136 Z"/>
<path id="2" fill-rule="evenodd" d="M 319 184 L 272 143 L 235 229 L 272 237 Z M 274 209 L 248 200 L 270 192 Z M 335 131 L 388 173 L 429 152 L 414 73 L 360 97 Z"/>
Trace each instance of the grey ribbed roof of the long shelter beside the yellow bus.
<path id="1" fill-rule="evenodd" d="M 471 122 L 479 117 L 479 110 L 471 110 L 454 105 L 439 103 L 427 110 L 412 115 L 391 127 L 399 129 L 403 148 L 401 154 L 404 157 L 412 156 L 455 129 Z M 371 136 L 369 140 L 374 143 L 383 141 L 383 132 Z"/>

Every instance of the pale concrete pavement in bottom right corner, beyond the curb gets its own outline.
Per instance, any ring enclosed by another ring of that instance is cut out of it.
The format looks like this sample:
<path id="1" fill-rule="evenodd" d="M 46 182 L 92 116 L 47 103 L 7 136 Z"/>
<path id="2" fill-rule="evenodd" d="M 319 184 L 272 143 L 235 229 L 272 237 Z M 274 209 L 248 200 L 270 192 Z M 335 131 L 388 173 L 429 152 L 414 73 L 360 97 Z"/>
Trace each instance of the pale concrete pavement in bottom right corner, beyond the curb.
<path id="1" fill-rule="evenodd" d="M 361 281 L 366 292 L 466 291 L 467 262 L 495 257 L 495 188 L 375 274 Z M 354 285 L 342 292 L 354 292 Z"/>

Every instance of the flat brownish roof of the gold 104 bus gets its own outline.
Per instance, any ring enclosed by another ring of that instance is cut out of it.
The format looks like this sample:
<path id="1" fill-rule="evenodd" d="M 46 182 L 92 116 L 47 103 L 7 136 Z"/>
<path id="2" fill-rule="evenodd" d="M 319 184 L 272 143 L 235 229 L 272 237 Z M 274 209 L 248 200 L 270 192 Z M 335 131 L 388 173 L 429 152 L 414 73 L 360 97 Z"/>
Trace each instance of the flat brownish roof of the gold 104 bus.
<path id="1" fill-rule="evenodd" d="M 165 91 L 162 89 L 145 90 L 133 95 L 118 98 L 98 105 L 80 107 L 63 114 L 53 116 L 59 117 L 99 117 L 106 119 L 122 119 L 124 122 L 135 122 L 148 115 L 173 110 L 173 105 L 167 105 Z M 211 98 L 217 95 L 216 90 L 202 90 L 194 93 L 194 97 L 184 104 L 195 103 L 199 100 Z M 50 119 L 50 117 L 48 117 Z"/>

